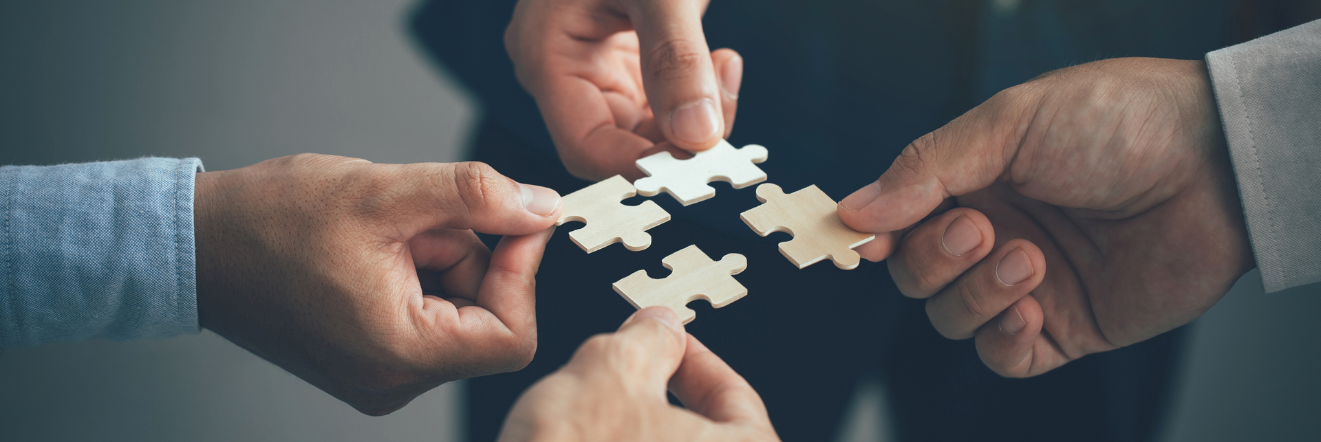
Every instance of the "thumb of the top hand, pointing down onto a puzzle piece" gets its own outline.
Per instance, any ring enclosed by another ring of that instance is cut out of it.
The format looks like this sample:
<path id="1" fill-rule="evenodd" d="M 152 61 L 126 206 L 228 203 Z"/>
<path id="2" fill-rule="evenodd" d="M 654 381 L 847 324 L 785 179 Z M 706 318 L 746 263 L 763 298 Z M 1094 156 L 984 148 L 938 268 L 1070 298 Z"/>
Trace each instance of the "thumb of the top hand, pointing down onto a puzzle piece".
<path id="1" fill-rule="evenodd" d="M 664 0 L 626 7 L 638 32 L 642 84 L 657 125 L 686 150 L 709 149 L 725 133 L 721 90 L 701 32 L 704 7 L 705 1 Z"/>

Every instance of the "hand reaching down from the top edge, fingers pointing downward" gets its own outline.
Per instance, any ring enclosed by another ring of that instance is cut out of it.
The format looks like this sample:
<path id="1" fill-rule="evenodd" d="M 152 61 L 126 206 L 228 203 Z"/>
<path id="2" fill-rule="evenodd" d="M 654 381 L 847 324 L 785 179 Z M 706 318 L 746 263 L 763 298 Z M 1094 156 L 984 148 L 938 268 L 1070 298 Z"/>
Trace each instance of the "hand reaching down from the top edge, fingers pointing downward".
<path id="1" fill-rule="evenodd" d="M 734 123 L 742 58 L 709 51 L 707 0 L 522 0 L 505 32 L 564 166 L 590 181 L 712 148 Z"/>

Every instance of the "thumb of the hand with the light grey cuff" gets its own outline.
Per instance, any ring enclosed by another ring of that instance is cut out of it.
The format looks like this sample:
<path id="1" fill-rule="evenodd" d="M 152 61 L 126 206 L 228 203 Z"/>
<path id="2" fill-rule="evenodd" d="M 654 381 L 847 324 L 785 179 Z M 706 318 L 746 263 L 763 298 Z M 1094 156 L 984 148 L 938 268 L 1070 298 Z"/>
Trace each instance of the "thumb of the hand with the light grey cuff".
<path id="1" fill-rule="evenodd" d="M 1032 117 L 1026 100 L 1005 92 L 910 142 L 881 178 L 839 202 L 839 218 L 857 231 L 893 232 L 1000 179 L 1018 152 L 1020 121 Z"/>

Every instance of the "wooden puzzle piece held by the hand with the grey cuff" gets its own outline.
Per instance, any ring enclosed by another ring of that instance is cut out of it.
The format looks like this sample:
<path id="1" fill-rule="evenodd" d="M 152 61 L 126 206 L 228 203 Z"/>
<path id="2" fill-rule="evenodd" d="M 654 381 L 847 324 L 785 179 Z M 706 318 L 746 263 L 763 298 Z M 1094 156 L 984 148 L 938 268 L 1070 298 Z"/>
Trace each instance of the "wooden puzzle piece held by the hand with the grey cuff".
<path id="1" fill-rule="evenodd" d="M 835 212 L 835 201 L 815 185 L 786 195 L 779 186 L 765 183 L 757 186 L 757 199 L 765 205 L 738 218 L 761 236 L 794 235 L 793 240 L 779 243 L 779 253 L 798 268 L 830 259 L 835 267 L 851 270 L 860 260 L 853 248 L 876 239 L 844 226 Z"/>

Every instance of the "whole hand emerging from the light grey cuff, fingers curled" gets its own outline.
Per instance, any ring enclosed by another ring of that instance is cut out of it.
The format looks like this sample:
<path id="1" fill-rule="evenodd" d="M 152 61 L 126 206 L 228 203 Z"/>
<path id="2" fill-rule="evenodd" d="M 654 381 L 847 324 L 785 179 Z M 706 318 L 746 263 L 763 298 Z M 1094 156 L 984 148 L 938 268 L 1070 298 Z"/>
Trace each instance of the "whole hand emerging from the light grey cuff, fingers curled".
<path id="1" fill-rule="evenodd" d="M 1185 325 L 1255 265 L 1201 61 L 1107 59 L 1001 91 L 839 216 L 878 234 L 860 253 L 889 256 L 935 329 L 976 336 L 1004 376 Z"/>

